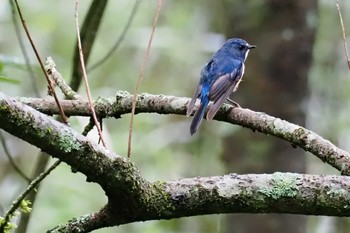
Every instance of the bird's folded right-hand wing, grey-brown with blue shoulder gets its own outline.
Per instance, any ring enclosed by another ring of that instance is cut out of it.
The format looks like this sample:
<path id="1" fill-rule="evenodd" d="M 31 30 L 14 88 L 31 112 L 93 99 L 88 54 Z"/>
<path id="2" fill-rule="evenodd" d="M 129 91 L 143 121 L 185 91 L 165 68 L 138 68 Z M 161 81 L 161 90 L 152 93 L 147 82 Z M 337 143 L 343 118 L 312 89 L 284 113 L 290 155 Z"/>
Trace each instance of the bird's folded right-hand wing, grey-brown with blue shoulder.
<path id="1" fill-rule="evenodd" d="M 237 87 L 243 76 L 244 64 L 239 61 L 231 61 L 230 64 L 223 64 L 219 70 L 222 71 L 221 75 L 212 83 L 209 92 L 210 100 L 214 103 L 207 113 L 208 120 L 214 118 L 221 105 Z"/>

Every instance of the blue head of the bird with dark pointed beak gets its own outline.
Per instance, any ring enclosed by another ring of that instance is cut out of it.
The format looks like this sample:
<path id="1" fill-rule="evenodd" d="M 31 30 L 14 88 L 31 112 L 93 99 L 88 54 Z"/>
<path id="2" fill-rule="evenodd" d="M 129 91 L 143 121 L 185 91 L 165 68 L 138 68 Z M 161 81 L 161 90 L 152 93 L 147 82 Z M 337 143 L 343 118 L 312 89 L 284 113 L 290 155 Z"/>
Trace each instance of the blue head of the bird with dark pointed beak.
<path id="1" fill-rule="evenodd" d="M 229 39 L 222 46 L 222 49 L 230 53 L 231 56 L 239 57 L 244 60 L 247 58 L 249 50 L 253 48 L 256 48 L 256 46 L 250 45 L 247 41 L 239 38 Z"/>

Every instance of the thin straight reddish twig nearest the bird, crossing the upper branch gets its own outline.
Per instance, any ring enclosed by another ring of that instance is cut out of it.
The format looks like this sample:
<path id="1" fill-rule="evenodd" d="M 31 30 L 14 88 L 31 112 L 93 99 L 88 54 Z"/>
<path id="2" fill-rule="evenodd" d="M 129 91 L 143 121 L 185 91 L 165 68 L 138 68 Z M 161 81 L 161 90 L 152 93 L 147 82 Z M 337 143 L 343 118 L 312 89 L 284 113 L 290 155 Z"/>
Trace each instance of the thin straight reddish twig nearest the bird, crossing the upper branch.
<path id="1" fill-rule="evenodd" d="M 130 158 L 130 154 L 131 154 L 132 126 L 133 126 L 133 123 L 134 123 L 134 115 L 135 115 L 135 108 L 136 108 L 136 97 L 137 97 L 137 93 L 139 91 L 139 88 L 140 88 L 140 85 L 141 85 L 141 82 L 142 82 L 143 73 L 144 73 L 145 66 L 146 66 L 146 63 L 147 63 L 147 60 L 148 60 L 148 56 L 149 56 L 149 52 L 150 52 L 150 49 L 151 49 L 153 35 L 154 35 L 155 30 L 156 30 L 156 25 L 157 25 L 157 22 L 158 22 L 158 16 L 159 16 L 161 5 L 162 5 L 162 0 L 158 0 L 157 1 L 157 11 L 156 11 L 156 15 L 154 17 L 151 35 L 150 35 L 150 38 L 148 40 L 147 51 L 146 51 L 145 56 L 143 58 L 142 67 L 141 67 L 140 74 L 139 74 L 139 77 L 138 77 L 138 80 L 137 80 L 137 85 L 136 85 L 136 88 L 135 88 L 135 91 L 134 91 L 134 96 L 133 96 L 133 101 L 132 101 L 132 109 L 131 109 L 130 127 L 129 127 L 129 138 L 128 138 L 128 158 Z"/>

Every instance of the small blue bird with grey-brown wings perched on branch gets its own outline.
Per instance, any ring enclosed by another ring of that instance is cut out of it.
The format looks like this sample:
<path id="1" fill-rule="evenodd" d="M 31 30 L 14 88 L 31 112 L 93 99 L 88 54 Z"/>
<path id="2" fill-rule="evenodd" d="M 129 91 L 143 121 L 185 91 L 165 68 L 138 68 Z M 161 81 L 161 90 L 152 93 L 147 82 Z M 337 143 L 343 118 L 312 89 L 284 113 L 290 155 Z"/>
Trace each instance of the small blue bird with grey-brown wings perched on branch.
<path id="1" fill-rule="evenodd" d="M 249 50 L 255 47 L 242 39 L 229 39 L 203 67 L 197 90 L 187 106 L 186 115 L 190 116 L 194 111 L 197 98 L 200 98 L 199 108 L 190 126 L 191 135 L 197 131 L 210 101 L 213 101 L 213 104 L 208 110 L 207 120 L 214 118 L 226 100 L 239 107 L 236 102 L 228 98 L 237 90 L 244 74 L 244 62 Z"/>

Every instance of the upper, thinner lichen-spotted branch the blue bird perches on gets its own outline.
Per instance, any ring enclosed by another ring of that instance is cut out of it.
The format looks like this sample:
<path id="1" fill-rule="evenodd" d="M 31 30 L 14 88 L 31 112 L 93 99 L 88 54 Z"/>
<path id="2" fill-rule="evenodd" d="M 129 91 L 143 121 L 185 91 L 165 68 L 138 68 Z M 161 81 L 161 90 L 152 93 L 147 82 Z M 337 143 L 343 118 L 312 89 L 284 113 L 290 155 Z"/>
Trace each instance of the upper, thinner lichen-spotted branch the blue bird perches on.
<path id="1" fill-rule="evenodd" d="M 18 100 L 43 113 L 58 114 L 53 101 L 36 98 L 18 98 Z M 140 94 L 137 98 L 136 113 L 156 112 L 185 115 L 188 101 L 188 98 L 175 96 Z M 68 116 L 90 116 L 86 101 L 61 101 L 61 105 Z M 132 96 L 127 92 L 118 92 L 116 97 L 98 99 L 94 106 L 99 118 L 118 118 L 122 114 L 131 112 Z M 316 155 L 323 162 L 341 171 L 341 174 L 350 174 L 350 154 L 348 152 L 339 149 L 330 141 L 301 126 L 262 112 L 232 108 L 228 104 L 219 110 L 214 119 L 241 125 L 289 141 L 293 146 L 299 146 Z"/>

